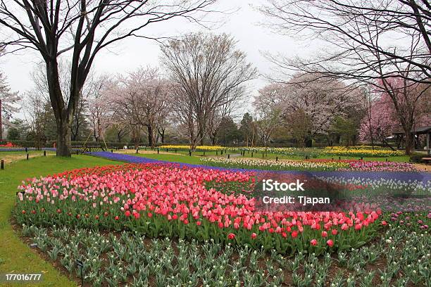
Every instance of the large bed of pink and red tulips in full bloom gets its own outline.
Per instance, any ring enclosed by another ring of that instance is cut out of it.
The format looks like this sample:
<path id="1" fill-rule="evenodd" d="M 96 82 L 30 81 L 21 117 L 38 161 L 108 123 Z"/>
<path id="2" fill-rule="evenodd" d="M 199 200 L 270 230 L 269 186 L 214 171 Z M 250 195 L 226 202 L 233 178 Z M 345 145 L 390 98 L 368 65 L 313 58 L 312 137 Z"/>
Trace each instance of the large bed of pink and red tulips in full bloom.
<path id="1" fill-rule="evenodd" d="M 175 165 L 118 165 L 73 170 L 23 182 L 14 210 L 20 224 L 137 231 L 317 255 L 357 248 L 379 229 L 379 210 L 268 212 L 246 193 L 208 183 L 253 186 L 253 174 Z"/>

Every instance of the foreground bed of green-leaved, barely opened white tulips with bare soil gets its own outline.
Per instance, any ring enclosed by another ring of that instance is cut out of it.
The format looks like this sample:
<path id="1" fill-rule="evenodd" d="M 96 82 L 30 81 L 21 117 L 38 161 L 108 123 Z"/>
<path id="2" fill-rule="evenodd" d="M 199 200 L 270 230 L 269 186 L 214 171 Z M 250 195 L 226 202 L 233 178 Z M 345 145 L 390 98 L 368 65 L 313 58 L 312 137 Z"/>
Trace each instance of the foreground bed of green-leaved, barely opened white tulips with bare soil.
<path id="1" fill-rule="evenodd" d="M 137 232 L 23 224 L 27 243 L 72 279 L 87 286 L 427 286 L 430 214 L 383 215 L 372 245 L 337 253 L 299 252 L 286 257 L 270 250 L 237 248 L 210 239 L 203 243 L 149 239 Z M 401 223 L 408 222 L 407 224 Z"/>

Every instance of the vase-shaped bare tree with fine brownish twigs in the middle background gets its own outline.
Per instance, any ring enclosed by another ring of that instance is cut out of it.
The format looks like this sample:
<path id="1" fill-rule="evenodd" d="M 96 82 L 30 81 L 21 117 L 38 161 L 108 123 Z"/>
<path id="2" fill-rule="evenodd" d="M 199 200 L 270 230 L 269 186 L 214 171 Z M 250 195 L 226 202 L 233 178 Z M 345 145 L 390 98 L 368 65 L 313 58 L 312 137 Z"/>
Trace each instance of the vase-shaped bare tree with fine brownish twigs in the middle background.
<path id="1" fill-rule="evenodd" d="M 210 117 L 222 106 L 235 106 L 244 95 L 244 83 L 256 76 L 235 44 L 227 34 L 196 33 L 161 46 L 162 63 L 180 89 L 177 113 L 188 127 L 192 149 L 197 142 L 204 144 Z"/>

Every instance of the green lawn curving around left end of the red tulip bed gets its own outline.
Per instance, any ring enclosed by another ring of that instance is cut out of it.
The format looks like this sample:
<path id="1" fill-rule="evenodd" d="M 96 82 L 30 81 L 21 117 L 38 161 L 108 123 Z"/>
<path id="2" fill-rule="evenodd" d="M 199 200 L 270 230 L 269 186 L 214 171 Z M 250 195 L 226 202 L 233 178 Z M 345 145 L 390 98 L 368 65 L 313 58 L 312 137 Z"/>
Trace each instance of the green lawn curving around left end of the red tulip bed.
<path id="1" fill-rule="evenodd" d="M 13 152 L 13 154 L 19 153 Z M 0 157 L 2 155 L 5 153 L 0 153 Z M 25 156 L 25 153 L 22 155 Z M 6 164 L 5 170 L 0 170 L 0 273 L 35 274 L 42 272 L 43 283 L 37 284 L 37 286 L 76 286 L 67 277 L 61 275 L 51 263 L 42 260 L 13 231 L 10 219 L 17 186 L 28 177 L 116 163 L 118 162 L 88 155 L 73 155 L 73 158 L 38 157 Z M 35 286 L 35 284 L 28 286 Z"/>

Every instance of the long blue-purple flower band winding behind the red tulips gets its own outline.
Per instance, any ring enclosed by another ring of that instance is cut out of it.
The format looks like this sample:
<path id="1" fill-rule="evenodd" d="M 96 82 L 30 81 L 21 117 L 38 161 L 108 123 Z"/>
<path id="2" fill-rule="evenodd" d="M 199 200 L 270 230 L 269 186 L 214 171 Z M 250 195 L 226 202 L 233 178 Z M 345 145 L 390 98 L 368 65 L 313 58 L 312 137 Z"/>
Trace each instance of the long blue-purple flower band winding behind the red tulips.
<path id="1" fill-rule="evenodd" d="M 249 169 L 241 169 L 241 168 L 228 168 L 228 167 L 213 167 L 208 165 L 193 165 L 189 163 L 182 162 L 169 162 L 166 160 L 154 160 L 152 158 L 144 158 L 142 156 L 124 154 L 124 153 L 109 153 L 107 151 L 93 152 L 89 153 L 94 156 L 98 156 L 101 158 L 108 158 L 111 160 L 118 160 L 123 162 L 131 162 L 131 163 L 175 163 L 180 167 L 200 167 L 206 169 L 213 170 L 232 170 L 232 171 L 240 171 L 240 172 L 268 172 L 268 170 L 249 170 Z M 304 171 L 273 171 L 273 172 L 285 172 L 290 174 L 302 173 Z M 371 180 L 379 180 L 379 179 L 387 179 L 394 181 L 422 181 L 424 184 L 427 181 L 431 182 L 431 172 L 361 172 L 361 171 L 331 171 L 331 172 L 306 172 L 314 177 L 337 177 L 337 178 L 345 178 L 345 179 L 371 179 Z"/>

